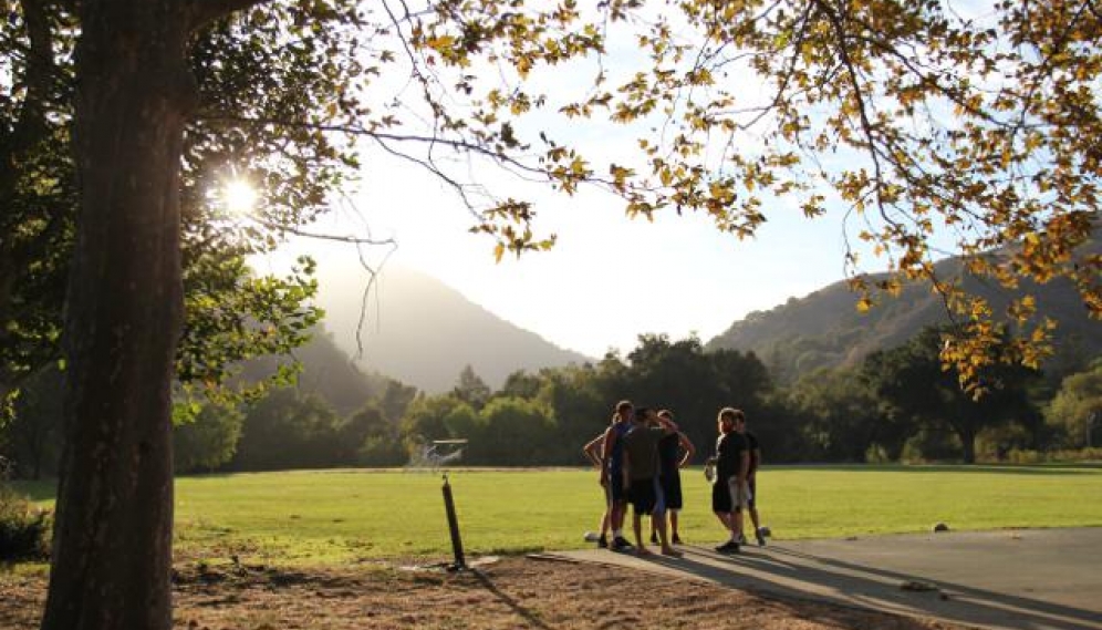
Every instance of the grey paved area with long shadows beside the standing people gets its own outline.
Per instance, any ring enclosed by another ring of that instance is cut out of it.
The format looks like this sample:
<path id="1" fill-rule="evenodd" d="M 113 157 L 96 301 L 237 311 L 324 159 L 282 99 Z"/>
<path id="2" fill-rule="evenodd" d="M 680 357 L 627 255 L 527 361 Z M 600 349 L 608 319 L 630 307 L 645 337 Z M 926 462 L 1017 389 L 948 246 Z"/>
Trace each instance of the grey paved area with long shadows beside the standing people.
<path id="1" fill-rule="evenodd" d="M 1102 630 L 1102 528 L 777 540 L 739 556 L 680 549 L 682 558 L 555 555 L 965 626 Z"/>

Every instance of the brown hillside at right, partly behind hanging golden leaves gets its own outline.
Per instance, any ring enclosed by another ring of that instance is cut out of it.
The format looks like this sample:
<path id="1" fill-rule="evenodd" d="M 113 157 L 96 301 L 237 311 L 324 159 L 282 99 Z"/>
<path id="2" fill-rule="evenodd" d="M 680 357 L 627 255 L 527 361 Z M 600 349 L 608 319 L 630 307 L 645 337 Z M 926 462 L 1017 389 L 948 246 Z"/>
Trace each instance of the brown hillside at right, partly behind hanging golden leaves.
<path id="1" fill-rule="evenodd" d="M 1099 240 L 1088 247 L 1099 250 Z M 942 277 L 959 277 L 961 265 L 952 258 L 936 268 Z M 965 287 L 990 300 L 996 312 L 1013 297 L 970 277 Z M 1042 314 L 1059 322 L 1053 365 L 1102 354 L 1102 322 L 1088 317 L 1070 283 L 1023 283 L 1021 291 L 1037 296 Z M 902 344 L 923 327 L 948 321 L 940 296 L 928 285 L 907 286 L 900 297 L 884 297 L 865 313 L 857 312 L 856 301 L 857 296 L 844 281 L 835 282 L 769 311 L 750 313 L 710 340 L 707 348 L 753 351 L 776 375 L 790 382 L 817 368 L 856 364 L 875 350 Z"/>

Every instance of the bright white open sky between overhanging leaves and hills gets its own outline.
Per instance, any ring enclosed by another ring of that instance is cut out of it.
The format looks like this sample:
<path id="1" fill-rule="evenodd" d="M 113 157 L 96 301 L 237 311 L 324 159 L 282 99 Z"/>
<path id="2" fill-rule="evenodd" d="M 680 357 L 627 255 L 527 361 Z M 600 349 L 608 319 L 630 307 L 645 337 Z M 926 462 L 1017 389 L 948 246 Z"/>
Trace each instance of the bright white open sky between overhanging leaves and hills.
<path id="1" fill-rule="evenodd" d="M 640 60 L 633 59 L 638 56 L 633 47 L 630 41 L 612 42 L 605 70 L 634 70 Z M 585 76 L 565 69 L 545 72 L 536 78 L 533 91 L 557 94 Z M 745 79 L 737 72 L 728 78 L 755 92 Z M 534 124 L 554 128 L 606 159 L 634 146 L 634 135 L 618 128 L 573 128 L 584 123 L 563 125 L 539 117 Z M 752 138 L 740 149 L 752 152 Z M 365 254 L 372 265 L 385 259 L 384 286 L 387 266 L 413 268 L 521 328 L 594 358 L 607 350 L 626 354 L 643 333 L 673 339 L 695 333 L 708 341 L 752 311 L 844 278 L 846 226 L 840 208 L 811 220 L 794 207 L 794 199 L 776 202 L 765 207 L 768 220 L 756 237 L 739 240 L 719 233 L 704 216 L 669 213 L 653 223 L 628 219 L 621 200 L 595 189 L 573 197 L 543 188 L 521 190 L 537 202 L 537 230 L 554 233 L 558 242 L 548 252 L 519 259 L 506 255 L 495 262 L 493 240 L 468 231 L 475 219 L 438 179 L 377 151 L 365 151 L 363 162 L 360 182 L 342 190 L 344 199 L 334 203 L 334 211 L 313 231 L 394 238 L 393 251 L 374 248 Z M 500 184 L 495 173 L 471 175 Z M 855 230 L 850 226 L 851 237 Z M 326 293 L 326 277 L 358 273 L 367 281 L 355 249 L 347 245 L 298 239 L 257 265 L 278 271 L 300 252 L 319 262 L 323 307 L 332 308 L 335 301 Z M 863 264 L 869 271 L 886 266 L 869 256 Z M 386 326 L 398 322 L 377 322 L 376 329 L 385 334 Z"/>

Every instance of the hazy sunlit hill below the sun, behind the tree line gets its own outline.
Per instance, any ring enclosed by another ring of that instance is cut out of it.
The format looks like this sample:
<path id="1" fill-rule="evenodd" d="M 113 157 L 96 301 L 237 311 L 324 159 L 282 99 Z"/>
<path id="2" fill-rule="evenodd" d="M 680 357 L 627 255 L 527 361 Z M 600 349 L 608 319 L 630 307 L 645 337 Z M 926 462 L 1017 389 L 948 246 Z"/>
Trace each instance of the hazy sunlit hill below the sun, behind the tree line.
<path id="1" fill-rule="evenodd" d="M 321 278 L 325 328 L 355 357 L 356 328 L 366 276 Z M 583 363 L 563 350 L 471 302 L 443 282 L 409 269 L 387 267 L 365 310 L 360 364 L 428 392 L 450 390 L 470 364 L 491 388 L 517 370 Z"/>

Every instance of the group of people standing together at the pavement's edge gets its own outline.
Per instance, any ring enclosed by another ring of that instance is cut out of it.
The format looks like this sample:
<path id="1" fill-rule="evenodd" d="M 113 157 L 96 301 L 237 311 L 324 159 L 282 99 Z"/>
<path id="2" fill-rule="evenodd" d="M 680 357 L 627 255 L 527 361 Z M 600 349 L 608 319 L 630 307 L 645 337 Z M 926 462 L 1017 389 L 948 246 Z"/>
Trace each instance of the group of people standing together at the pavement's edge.
<path id="1" fill-rule="evenodd" d="M 757 471 L 761 451 L 747 431 L 746 414 L 724 407 L 717 419 L 719 435 L 715 455 L 706 462 L 711 482 L 711 509 L 729 539 L 716 547 L 721 554 L 738 554 L 747 543 L 744 513 L 749 513 L 755 538 L 765 546 L 765 531 L 757 510 Z M 696 448 L 678 428 L 668 410 L 636 409 L 621 401 L 609 427 L 585 444 L 583 452 L 600 468 L 605 512 L 601 517 L 597 546 L 614 551 L 646 555 L 644 516 L 651 517 L 651 541 L 665 556 L 680 556 L 678 514 L 683 507 L 679 469 L 692 461 Z M 627 507 L 633 510 L 635 544 L 624 537 Z M 612 535 L 610 540 L 609 535 Z"/>

